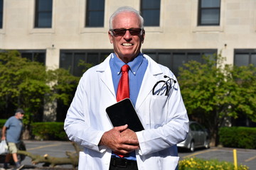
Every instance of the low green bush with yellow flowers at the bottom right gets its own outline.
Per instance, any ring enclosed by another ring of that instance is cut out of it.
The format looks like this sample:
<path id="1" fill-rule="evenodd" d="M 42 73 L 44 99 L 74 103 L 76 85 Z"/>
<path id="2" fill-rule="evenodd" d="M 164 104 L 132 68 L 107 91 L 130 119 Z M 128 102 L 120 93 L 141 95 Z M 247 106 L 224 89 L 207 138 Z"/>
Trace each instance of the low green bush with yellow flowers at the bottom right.
<path id="1" fill-rule="evenodd" d="M 206 160 L 199 158 L 187 158 L 178 163 L 179 170 L 233 170 L 234 164 L 230 162 L 219 162 L 218 160 Z M 248 170 L 249 167 L 239 165 L 238 170 Z"/>

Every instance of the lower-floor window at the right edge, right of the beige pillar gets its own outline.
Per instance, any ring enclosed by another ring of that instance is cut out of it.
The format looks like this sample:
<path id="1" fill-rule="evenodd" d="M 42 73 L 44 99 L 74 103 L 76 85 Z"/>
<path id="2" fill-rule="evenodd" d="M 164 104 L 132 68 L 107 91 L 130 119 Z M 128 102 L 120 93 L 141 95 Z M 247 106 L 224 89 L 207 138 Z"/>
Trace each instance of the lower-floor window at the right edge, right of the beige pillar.
<path id="1" fill-rule="evenodd" d="M 235 50 L 234 64 L 236 66 L 256 66 L 256 49 L 254 50 Z"/>

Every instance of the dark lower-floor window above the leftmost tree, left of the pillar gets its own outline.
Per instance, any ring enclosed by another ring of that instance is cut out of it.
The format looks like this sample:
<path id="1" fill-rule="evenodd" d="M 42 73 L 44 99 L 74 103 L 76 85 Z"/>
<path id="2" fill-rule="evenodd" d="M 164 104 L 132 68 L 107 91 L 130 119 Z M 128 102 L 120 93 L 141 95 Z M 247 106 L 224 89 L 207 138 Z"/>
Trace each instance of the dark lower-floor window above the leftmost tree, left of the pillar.
<path id="1" fill-rule="evenodd" d="M 46 50 L 18 50 L 18 52 L 21 53 L 23 58 L 46 64 Z"/>

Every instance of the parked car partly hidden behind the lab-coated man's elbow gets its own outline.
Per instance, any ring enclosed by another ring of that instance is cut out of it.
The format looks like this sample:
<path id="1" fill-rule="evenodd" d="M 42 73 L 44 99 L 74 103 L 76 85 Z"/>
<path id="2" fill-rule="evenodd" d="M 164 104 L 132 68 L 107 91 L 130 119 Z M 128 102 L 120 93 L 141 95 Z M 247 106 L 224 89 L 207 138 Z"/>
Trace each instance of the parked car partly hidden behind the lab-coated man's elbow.
<path id="1" fill-rule="evenodd" d="M 186 140 L 178 143 L 178 147 L 189 149 L 190 152 L 194 152 L 195 148 L 210 147 L 210 135 L 208 130 L 203 128 L 202 125 L 195 121 L 189 122 L 189 131 Z"/>

